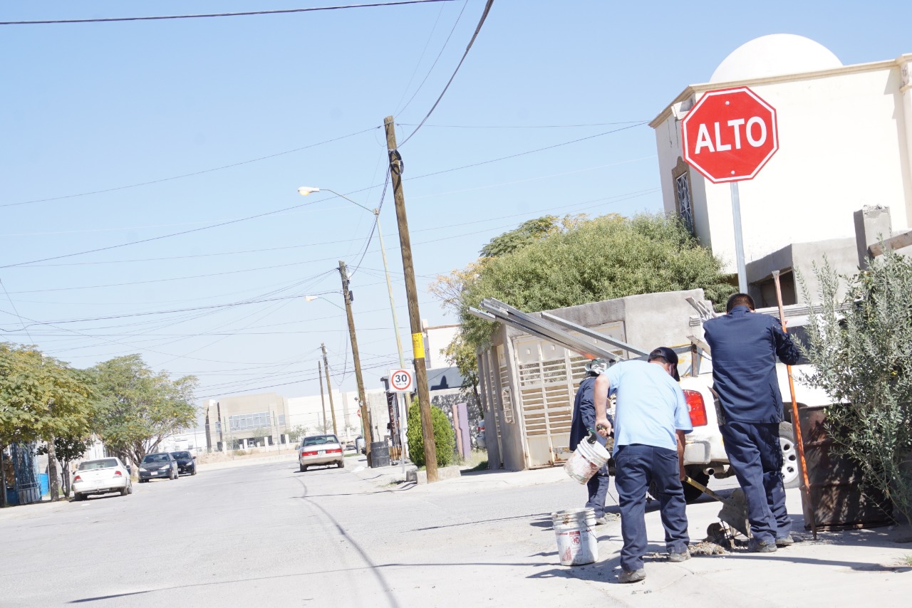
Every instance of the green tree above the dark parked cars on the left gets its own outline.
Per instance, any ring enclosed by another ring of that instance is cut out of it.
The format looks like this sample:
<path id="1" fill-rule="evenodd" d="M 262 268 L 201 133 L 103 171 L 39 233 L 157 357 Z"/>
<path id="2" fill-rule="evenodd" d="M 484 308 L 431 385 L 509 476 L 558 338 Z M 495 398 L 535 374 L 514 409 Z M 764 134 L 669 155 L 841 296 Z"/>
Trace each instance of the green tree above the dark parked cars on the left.
<path id="1" fill-rule="evenodd" d="M 195 421 L 195 376 L 171 380 L 166 372 L 153 373 L 139 355 L 110 359 L 92 372 L 99 395 L 96 433 L 122 459 L 140 462 Z"/>

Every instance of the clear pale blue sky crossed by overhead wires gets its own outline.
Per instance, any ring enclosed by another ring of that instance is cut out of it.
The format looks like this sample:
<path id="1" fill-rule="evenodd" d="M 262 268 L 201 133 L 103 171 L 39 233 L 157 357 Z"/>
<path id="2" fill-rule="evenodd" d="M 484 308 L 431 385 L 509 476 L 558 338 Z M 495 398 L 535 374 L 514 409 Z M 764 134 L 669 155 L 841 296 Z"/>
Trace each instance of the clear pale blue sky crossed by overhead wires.
<path id="1" fill-rule="evenodd" d="M 0 20 L 311 2 L 4 3 Z M 316 394 L 325 342 L 335 385 L 352 390 L 336 271 L 345 260 L 355 270 L 365 384 L 379 386 L 398 360 L 376 236 L 367 242 L 372 216 L 296 189 L 328 188 L 378 206 L 384 117 L 395 116 L 400 142 L 408 136 L 451 76 L 483 5 L 0 26 L 3 339 L 78 367 L 140 353 L 156 369 L 199 376 L 199 397 Z M 496 0 L 428 125 L 400 150 L 422 317 L 456 322 L 427 284 L 525 220 L 659 211 L 653 131 L 630 125 L 709 80 L 737 46 L 797 34 L 844 64 L 912 51 L 912 3 L 876 6 Z M 220 169 L 228 165 L 236 166 Z M 145 182 L 155 183 L 130 187 Z M 310 204 L 71 255 L 302 203 Z M 410 351 L 391 195 L 381 222 Z M 34 262 L 56 256 L 67 257 Z M 307 303 L 307 294 L 326 299 Z M 238 304 L 249 300 L 260 302 Z"/>

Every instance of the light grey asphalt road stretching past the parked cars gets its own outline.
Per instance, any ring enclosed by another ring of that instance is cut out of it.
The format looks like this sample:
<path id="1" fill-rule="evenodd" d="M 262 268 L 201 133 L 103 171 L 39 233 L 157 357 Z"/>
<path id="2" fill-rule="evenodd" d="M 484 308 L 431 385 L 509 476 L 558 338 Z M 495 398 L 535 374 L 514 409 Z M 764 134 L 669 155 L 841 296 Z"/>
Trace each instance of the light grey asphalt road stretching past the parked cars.
<path id="1" fill-rule="evenodd" d="M 390 491 L 355 464 L 201 470 L 4 510 L 0 606 L 610 604 L 555 554 L 550 513 L 581 506 L 581 486 Z"/>

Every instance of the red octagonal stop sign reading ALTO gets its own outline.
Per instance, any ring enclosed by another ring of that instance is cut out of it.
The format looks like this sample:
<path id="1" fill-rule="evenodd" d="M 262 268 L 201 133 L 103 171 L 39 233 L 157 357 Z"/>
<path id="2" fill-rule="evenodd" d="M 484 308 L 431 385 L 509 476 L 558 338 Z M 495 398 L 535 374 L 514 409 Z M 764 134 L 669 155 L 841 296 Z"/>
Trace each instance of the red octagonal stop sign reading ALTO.
<path id="1" fill-rule="evenodd" d="M 684 160 L 713 183 L 752 180 L 779 149 L 776 110 L 747 87 L 707 91 L 681 133 Z"/>

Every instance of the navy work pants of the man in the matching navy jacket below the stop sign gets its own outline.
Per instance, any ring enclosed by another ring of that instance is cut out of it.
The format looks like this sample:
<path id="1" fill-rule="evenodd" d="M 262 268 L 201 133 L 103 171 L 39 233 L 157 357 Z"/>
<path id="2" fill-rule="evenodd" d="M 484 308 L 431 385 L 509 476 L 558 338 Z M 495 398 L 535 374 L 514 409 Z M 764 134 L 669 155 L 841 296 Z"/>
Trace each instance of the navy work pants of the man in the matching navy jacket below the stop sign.
<path id="1" fill-rule="evenodd" d="M 785 509 L 779 424 L 730 421 L 720 430 L 731 468 L 747 500 L 751 535 L 759 542 L 788 535 L 792 520 Z"/>

